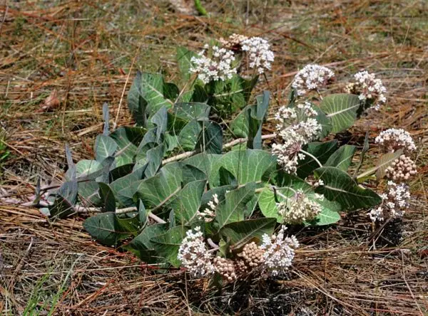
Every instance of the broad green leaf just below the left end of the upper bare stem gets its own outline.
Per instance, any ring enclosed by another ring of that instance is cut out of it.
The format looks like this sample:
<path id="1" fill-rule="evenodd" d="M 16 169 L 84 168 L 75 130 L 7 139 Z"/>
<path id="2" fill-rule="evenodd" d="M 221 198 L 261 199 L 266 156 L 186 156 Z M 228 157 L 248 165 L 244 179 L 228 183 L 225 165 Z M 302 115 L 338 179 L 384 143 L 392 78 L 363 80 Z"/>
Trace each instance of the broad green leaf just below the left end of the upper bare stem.
<path id="1" fill-rule="evenodd" d="M 153 177 L 144 179 L 136 186 L 138 197 L 149 209 L 165 204 L 173 198 L 181 188 L 183 173 L 179 162 L 165 164 Z"/>

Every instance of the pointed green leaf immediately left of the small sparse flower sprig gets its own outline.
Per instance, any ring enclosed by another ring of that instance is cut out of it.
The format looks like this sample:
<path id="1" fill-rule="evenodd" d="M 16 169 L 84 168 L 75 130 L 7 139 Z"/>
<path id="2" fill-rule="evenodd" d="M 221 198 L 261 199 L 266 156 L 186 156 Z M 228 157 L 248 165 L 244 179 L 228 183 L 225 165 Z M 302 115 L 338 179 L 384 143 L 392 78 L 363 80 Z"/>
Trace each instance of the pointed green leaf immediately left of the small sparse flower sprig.
<path id="1" fill-rule="evenodd" d="M 205 189 L 205 183 L 206 180 L 189 182 L 167 204 L 174 210 L 178 223 L 187 224 L 195 217 L 200 208 L 200 199 Z"/>

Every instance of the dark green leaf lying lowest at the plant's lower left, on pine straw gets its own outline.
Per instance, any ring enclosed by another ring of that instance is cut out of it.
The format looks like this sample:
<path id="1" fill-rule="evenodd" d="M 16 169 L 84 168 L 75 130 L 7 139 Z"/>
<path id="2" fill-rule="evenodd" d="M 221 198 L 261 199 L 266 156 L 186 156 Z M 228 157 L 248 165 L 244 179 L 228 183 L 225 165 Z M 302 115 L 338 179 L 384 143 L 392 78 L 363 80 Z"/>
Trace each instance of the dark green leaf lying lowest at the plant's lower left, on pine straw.
<path id="1" fill-rule="evenodd" d="M 83 228 L 92 238 L 106 246 L 117 246 L 119 241 L 136 236 L 138 226 L 138 216 L 120 218 L 114 213 L 96 214 L 83 222 Z"/>

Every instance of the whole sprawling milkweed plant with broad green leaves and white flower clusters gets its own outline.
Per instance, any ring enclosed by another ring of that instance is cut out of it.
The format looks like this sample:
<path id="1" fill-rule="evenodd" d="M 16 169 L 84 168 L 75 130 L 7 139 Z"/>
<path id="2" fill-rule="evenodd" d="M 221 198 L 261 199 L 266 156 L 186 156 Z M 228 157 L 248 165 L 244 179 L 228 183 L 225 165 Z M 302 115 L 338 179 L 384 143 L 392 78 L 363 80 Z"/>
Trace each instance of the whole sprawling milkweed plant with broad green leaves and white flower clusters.
<path id="1" fill-rule="evenodd" d="M 252 91 L 273 61 L 264 38 L 233 34 L 198 53 L 178 48 L 175 83 L 138 72 L 128 92 L 136 124 L 111 131 L 104 105 L 95 159 L 74 164 L 66 147 L 66 181 L 49 196 L 38 191 L 42 211 L 97 212 L 83 224 L 96 241 L 218 284 L 286 273 L 300 246 L 287 227 L 332 225 L 350 211 L 374 225 L 403 216 L 417 168 L 409 133 L 381 132 L 379 160 L 365 171 L 368 136 L 354 164 L 357 147 L 334 137 L 385 104 L 382 81 L 362 71 L 329 94 L 335 73 L 306 65 L 275 110 L 275 133 L 263 135 L 270 93 Z M 384 191 L 366 188 L 370 179 Z"/>

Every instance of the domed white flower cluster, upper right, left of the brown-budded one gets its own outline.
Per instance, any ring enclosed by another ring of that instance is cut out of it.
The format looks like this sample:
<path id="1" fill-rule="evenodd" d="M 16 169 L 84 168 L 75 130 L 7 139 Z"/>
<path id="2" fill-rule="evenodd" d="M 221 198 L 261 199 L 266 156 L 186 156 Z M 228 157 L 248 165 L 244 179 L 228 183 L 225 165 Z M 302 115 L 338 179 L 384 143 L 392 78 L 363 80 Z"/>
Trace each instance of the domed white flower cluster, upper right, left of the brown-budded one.
<path id="1" fill-rule="evenodd" d="M 305 95 L 307 91 L 318 90 L 333 78 L 335 73 L 322 65 L 305 65 L 292 81 L 292 88 L 295 88 L 297 95 Z"/>

